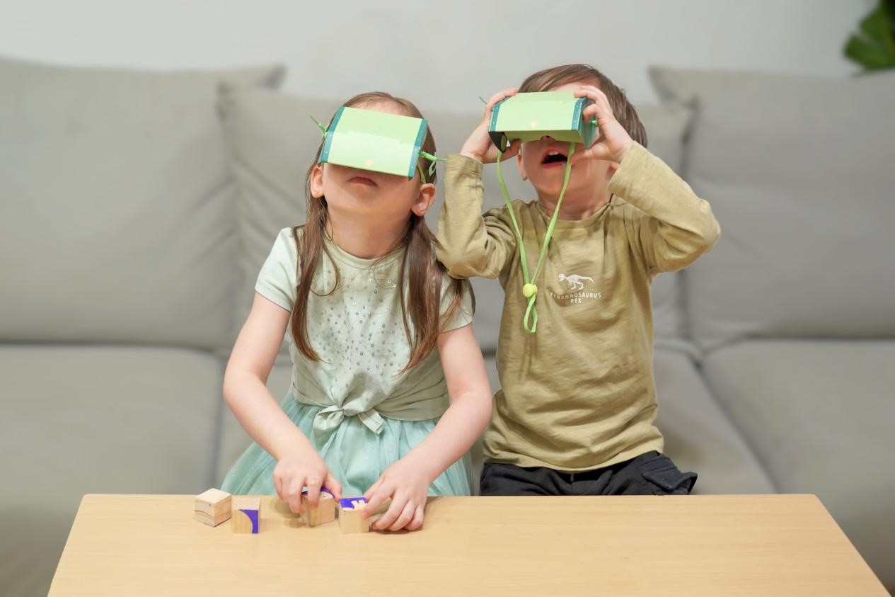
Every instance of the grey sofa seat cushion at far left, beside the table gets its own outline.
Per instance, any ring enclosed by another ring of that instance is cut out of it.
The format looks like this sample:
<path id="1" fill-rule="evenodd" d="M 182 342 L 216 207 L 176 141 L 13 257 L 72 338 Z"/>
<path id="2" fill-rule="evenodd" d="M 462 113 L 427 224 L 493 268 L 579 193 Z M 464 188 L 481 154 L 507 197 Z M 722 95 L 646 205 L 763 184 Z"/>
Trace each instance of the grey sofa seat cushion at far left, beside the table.
<path id="1" fill-rule="evenodd" d="M 0 345 L 0 587 L 46 594 L 86 493 L 199 493 L 222 365 L 194 350 Z"/>

